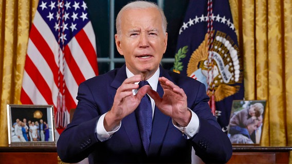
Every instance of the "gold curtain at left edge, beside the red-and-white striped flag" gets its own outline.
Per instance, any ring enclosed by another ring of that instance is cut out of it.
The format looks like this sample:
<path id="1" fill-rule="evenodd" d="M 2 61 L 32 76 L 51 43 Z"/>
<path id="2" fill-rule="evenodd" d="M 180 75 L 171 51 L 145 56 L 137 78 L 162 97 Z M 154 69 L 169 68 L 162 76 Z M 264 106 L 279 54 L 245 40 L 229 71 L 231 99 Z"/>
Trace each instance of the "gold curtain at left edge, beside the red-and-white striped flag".
<path id="1" fill-rule="evenodd" d="M 29 28 L 39 0 L 0 2 L 0 146 L 8 145 L 7 104 L 20 104 Z"/>

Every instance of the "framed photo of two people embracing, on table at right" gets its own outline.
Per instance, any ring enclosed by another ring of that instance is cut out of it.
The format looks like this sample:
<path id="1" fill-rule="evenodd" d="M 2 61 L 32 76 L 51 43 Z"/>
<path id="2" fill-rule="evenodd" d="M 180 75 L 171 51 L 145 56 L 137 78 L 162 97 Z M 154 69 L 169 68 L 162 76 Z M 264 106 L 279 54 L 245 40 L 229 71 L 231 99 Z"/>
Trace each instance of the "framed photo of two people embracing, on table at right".
<path id="1" fill-rule="evenodd" d="M 233 145 L 260 145 L 266 100 L 233 100 L 228 137 Z"/>

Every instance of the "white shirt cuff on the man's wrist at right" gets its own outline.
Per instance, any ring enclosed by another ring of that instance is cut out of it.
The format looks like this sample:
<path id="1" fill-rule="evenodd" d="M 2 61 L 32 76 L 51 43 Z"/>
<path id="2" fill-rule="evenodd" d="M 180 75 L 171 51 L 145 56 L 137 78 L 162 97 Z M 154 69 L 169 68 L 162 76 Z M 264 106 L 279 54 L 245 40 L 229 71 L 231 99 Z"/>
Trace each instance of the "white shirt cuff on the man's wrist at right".
<path id="1" fill-rule="evenodd" d="M 172 120 L 172 124 L 177 128 L 181 133 L 184 133 L 187 135 L 187 138 L 192 138 L 199 130 L 199 118 L 195 112 L 193 112 L 191 109 L 188 108 L 188 110 L 191 111 L 192 117 L 189 122 L 189 124 L 186 127 L 181 127 L 178 124 L 174 124 L 174 121 Z"/>

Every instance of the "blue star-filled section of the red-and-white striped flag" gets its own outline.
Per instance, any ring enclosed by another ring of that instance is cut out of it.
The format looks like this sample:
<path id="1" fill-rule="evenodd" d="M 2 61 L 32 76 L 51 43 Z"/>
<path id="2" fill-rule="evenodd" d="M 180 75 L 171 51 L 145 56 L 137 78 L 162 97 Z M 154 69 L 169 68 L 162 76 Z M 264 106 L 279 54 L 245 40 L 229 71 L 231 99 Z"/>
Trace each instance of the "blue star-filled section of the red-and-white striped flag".
<path id="1" fill-rule="evenodd" d="M 82 0 L 42 0 L 40 4 L 38 11 L 56 40 L 60 41 L 61 48 L 89 22 L 87 6 Z"/>

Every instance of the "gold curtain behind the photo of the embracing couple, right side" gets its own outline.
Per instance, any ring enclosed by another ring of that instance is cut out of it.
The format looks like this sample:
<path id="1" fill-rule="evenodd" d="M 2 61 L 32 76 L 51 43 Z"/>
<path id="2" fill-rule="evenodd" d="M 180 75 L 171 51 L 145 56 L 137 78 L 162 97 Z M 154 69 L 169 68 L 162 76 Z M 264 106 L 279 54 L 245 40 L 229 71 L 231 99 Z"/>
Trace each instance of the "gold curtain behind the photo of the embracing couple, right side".
<path id="1" fill-rule="evenodd" d="M 246 99 L 266 99 L 262 146 L 292 146 L 292 2 L 230 0 Z"/>

